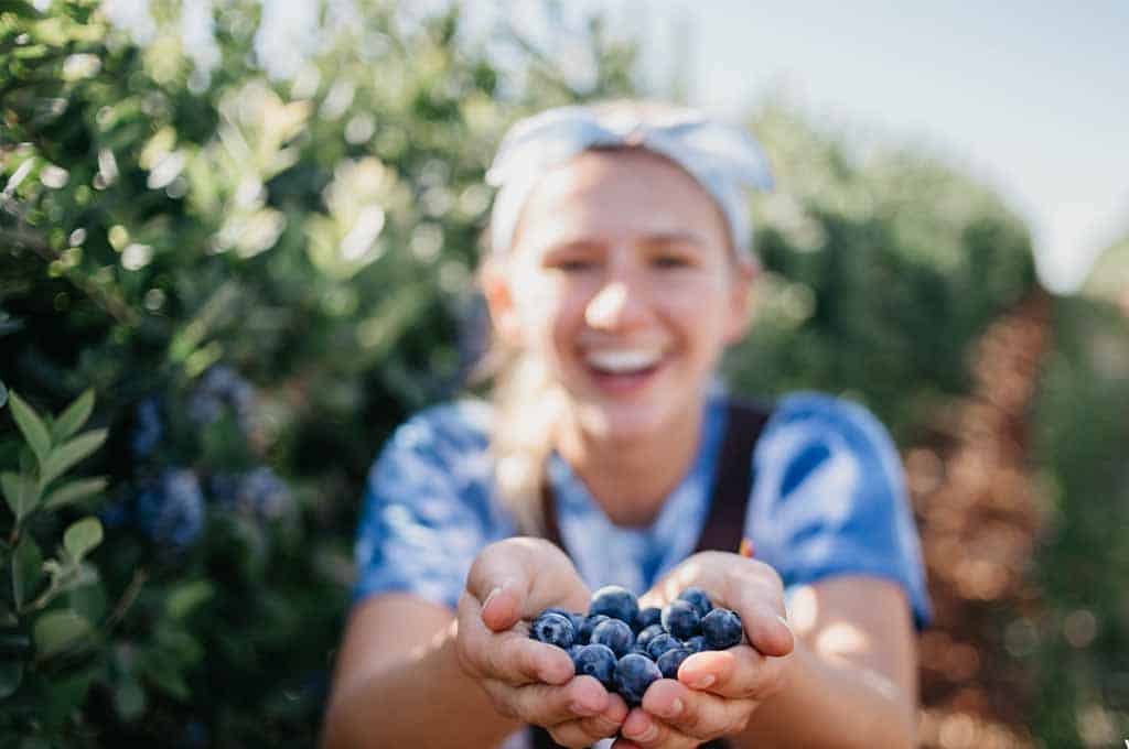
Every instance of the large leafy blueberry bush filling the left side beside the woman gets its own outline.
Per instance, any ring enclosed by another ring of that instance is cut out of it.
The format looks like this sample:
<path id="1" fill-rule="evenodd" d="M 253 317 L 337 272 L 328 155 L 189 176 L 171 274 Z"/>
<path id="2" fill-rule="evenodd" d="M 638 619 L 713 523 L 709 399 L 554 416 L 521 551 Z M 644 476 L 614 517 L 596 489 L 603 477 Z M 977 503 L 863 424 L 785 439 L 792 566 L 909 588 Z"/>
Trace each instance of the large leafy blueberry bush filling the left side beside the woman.
<path id="1" fill-rule="evenodd" d="M 93 0 L 0 7 L 0 737 L 315 743 L 362 478 L 463 379 L 493 147 L 631 92 L 598 21 L 578 85 L 457 6 L 356 6 L 285 78 L 252 0 L 216 3 L 213 68 L 175 0 L 145 44 Z"/>

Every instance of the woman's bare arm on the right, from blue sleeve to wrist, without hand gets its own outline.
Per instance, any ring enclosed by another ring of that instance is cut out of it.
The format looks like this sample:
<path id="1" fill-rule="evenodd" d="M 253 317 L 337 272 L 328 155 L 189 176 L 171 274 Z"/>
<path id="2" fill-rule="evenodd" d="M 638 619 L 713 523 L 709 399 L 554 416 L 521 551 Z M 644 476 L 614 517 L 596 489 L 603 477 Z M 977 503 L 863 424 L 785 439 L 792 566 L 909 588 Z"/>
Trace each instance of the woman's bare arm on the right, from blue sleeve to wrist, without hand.
<path id="1" fill-rule="evenodd" d="M 917 655 L 902 589 L 843 575 L 796 592 L 784 688 L 734 737 L 742 747 L 916 744 Z"/>

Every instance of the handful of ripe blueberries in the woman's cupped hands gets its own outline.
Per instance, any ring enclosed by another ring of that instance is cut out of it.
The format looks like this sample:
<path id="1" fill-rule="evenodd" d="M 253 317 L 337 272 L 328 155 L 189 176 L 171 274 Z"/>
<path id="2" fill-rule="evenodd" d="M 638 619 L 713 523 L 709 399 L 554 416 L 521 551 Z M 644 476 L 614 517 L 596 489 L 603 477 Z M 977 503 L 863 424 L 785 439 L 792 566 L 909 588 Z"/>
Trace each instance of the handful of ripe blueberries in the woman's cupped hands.
<path id="1" fill-rule="evenodd" d="M 663 609 L 640 609 L 634 593 L 606 585 L 593 594 L 587 616 L 545 609 L 531 636 L 567 650 L 578 676 L 595 677 L 638 705 L 653 681 L 677 678 L 690 655 L 733 647 L 743 634 L 737 613 L 714 608 L 700 588 L 686 588 Z"/>

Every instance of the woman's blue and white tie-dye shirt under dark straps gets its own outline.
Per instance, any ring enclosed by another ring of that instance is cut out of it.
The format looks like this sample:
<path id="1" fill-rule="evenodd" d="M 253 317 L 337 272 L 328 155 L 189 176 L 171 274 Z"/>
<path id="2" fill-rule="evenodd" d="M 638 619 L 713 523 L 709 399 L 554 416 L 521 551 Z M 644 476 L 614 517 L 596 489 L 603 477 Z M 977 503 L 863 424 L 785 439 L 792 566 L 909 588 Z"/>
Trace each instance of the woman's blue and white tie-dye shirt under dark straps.
<path id="1" fill-rule="evenodd" d="M 725 434 L 725 394 L 703 404 L 690 472 L 648 528 L 615 526 L 557 453 L 549 477 L 561 538 L 585 583 L 642 593 L 693 553 Z M 428 408 L 388 440 L 373 466 L 357 537 L 355 601 L 409 591 L 455 607 L 488 544 L 513 536 L 488 450 L 491 407 L 464 399 Z M 931 619 L 901 460 L 864 407 L 815 393 L 779 400 L 751 456 L 755 482 L 744 536 L 786 587 L 841 573 L 902 585 L 914 624 Z"/>

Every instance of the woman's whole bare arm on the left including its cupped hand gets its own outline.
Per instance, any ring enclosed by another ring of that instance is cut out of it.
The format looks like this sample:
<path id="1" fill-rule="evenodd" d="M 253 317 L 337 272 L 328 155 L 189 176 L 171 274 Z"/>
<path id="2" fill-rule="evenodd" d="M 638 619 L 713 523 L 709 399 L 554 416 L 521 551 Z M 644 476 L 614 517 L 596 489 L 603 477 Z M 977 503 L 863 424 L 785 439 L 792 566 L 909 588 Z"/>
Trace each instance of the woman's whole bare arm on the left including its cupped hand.
<path id="1" fill-rule="evenodd" d="M 376 596 L 345 632 L 323 748 L 496 747 L 524 724 L 569 747 L 614 735 L 623 700 L 576 677 L 564 651 L 518 626 L 588 598 L 564 553 L 534 538 L 498 541 L 475 557 L 457 618 L 414 596 Z"/>

